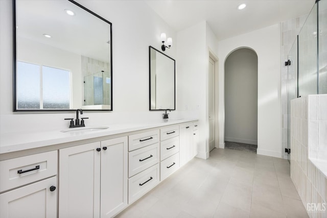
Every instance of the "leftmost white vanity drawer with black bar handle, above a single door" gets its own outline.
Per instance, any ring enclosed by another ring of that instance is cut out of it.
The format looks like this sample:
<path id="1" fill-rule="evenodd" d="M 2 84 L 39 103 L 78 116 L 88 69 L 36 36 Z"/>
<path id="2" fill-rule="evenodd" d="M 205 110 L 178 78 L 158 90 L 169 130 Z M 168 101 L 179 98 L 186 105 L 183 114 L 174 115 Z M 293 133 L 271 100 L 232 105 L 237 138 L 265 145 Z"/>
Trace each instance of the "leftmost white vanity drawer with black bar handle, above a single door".
<path id="1" fill-rule="evenodd" d="M 57 174 L 57 151 L 0 161 L 0 192 Z"/>

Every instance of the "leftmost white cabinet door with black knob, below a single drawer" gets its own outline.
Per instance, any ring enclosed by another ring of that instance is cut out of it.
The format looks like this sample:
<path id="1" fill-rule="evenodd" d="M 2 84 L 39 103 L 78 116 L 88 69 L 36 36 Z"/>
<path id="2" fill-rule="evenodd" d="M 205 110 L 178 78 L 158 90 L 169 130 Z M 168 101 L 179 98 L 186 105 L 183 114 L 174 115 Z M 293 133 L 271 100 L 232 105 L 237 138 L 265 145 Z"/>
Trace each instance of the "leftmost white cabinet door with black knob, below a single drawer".
<path id="1" fill-rule="evenodd" d="M 57 217 L 57 177 L 7 191 L 0 195 L 0 217 Z"/>

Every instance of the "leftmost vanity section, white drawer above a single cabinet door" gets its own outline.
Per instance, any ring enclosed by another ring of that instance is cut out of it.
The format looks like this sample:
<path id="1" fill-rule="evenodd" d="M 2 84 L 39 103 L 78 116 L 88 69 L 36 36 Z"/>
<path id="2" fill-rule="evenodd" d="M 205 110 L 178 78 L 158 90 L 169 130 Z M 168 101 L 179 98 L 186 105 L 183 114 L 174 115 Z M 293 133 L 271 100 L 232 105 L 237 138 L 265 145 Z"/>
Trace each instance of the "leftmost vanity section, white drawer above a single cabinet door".
<path id="1" fill-rule="evenodd" d="M 0 161 L 0 217 L 57 217 L 57 151 Z"/>

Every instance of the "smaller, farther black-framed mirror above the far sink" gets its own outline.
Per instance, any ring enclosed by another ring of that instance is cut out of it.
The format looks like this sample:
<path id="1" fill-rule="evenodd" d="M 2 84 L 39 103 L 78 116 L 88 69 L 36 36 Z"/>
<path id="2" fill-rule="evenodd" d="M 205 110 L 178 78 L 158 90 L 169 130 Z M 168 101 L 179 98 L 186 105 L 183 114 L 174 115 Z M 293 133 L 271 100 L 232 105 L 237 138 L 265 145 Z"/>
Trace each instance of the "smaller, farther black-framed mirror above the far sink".
<path id="1" fill-rule="evenodd" d="M 149 46 L 150 110 L 175 110 L 175 60 Z"/>

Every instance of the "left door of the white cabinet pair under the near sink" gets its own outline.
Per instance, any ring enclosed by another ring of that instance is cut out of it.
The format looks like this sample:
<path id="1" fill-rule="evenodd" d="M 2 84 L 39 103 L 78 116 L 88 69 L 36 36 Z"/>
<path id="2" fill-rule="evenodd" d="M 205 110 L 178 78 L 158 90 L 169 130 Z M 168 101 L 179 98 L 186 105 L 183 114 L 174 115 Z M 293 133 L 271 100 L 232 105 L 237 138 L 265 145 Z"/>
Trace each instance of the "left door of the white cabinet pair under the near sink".
<path id="1" fill-rule="evenodd" d="M 59 150 L 59 217 L 100 216 L 100 142 Z"/>

